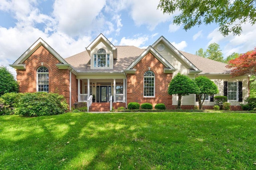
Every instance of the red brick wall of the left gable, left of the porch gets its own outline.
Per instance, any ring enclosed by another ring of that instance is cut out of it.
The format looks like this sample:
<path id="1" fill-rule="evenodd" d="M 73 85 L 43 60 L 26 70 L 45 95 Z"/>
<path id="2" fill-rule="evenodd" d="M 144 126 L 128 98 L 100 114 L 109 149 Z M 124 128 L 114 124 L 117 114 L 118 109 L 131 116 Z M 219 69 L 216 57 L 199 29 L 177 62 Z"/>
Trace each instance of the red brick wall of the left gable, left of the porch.
<path id="1" fill-rule="evenodd" d="M 63 95 L 69 103 L 69 79 L 70 71 L 68 69 L 58 69 L 56 64 L 60 63 L 52 53 L 41 45 L 23 64 L 26 69 L 17 69 L 17 81 L 20 82 L 21 93 L 36 92 L 36 71 L 39 67 L 45 66 L 49 70 L 49 92 Z M 43 64 L 43 65 L 42 65 Z M 77 96 L 76 76 L 72 73 L 72 101 Z"/>

